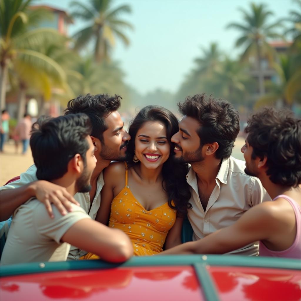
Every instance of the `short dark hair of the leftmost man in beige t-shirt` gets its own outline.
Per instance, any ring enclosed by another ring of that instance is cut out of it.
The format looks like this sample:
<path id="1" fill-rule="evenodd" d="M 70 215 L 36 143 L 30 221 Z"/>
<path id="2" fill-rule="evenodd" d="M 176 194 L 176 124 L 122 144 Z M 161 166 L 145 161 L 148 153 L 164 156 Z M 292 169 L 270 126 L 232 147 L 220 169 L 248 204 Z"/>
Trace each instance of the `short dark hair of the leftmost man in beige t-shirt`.
<path id="1" fill-rule="evenodd" d="M 30 148 L 39 180 L 55 180 L 66 172 L 69 161 L 80 154 L 86 164 L 89 144 L 85 139 L 92 126 L 85 114 L 51 118 L 41 116 L 33 124 Z"/>

